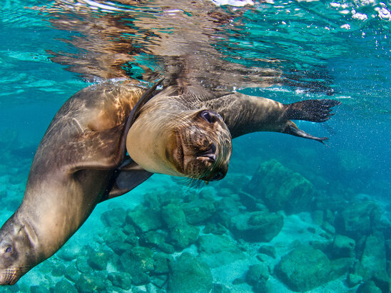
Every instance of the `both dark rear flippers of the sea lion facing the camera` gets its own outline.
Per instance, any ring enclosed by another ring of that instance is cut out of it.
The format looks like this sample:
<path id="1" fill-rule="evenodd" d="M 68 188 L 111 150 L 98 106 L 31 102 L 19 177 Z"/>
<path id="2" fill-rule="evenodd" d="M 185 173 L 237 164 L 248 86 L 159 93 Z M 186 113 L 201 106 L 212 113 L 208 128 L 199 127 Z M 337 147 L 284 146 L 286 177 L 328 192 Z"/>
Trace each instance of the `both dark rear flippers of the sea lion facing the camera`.
<path id="1" fill-rule="evenodd" d="M 288 119 L 288 125 L 284 129 L 283 133 L 298 136 L 300 138 L 308 138 L 312 140 L 318 140 L 320 143 L 324 143 L 324 140 L 328 138 L 317 138 L 316 136 L 305 133 L 300 130 L 290 120 L 306 120 L 311 122 L 325 122 L 330 119 L 334 113 L 331 113 L 332 107 L 340 105 L 340 101 L 335 100 L 305 100 L 292 104 L 285 105 L 285 118 Z"/>

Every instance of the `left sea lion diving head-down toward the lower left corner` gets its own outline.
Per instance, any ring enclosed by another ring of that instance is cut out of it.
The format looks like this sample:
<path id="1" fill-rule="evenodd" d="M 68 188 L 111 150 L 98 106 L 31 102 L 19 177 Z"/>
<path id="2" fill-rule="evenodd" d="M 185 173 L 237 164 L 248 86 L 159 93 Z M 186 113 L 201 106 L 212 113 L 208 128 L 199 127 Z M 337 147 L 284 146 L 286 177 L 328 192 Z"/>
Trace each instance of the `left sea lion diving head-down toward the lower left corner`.
<path id="1" fill-rule="evenodd" d="M 0 284 L 15 284 L 54 255 L 98 202 L 151 176 L 141 170 L 122 189 L 113 183 L 121 175 L 130 113 L 156 86 L 148 91 L 125 81 L 90 86 L 56 113 L 34 156 L 24 199 L 0 230 Z"/>

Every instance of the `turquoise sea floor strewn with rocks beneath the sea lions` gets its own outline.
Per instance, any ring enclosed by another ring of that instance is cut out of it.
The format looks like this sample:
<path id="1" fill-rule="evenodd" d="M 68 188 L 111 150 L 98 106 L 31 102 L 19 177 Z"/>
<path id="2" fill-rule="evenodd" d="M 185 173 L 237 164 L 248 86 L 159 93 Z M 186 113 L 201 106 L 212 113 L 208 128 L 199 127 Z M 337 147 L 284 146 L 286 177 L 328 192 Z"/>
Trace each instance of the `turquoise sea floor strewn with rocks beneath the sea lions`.
<path id="1" fill-rule="evenodd" d="M 30 160 L 0 168 L 1 222 L 21 201 Z M 99 204 L 56 255 L 6 289 L 387 292 L 390 202 L 332 197 L 300 173 L 286 186 L 270 182 L 286 172 L 273 159 L 200 189 L 153 175 Z"/>

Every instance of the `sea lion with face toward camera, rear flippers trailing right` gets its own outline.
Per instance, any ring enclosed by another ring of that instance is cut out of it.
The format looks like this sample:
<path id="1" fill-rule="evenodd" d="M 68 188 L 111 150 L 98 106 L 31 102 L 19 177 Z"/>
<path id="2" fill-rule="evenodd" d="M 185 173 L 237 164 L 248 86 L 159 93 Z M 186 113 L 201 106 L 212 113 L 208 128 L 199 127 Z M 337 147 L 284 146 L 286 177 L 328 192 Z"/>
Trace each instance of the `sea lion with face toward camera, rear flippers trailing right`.
<path id="1" fill-rule="evenodd" d="M 275 131 L 323 142 L 327 138 L 305 133 L 291 119 L 323 122 L 339 104 L 307 100 L 285 105 L 178 81 L 141 108 L 128 132 L 126 148 L 138 165 L 152 173 L 220 180 L 228 170 L 232 138 Z M 200 128 L 198 123 L 205 125 L 205 121 L 207 126 Z"/>

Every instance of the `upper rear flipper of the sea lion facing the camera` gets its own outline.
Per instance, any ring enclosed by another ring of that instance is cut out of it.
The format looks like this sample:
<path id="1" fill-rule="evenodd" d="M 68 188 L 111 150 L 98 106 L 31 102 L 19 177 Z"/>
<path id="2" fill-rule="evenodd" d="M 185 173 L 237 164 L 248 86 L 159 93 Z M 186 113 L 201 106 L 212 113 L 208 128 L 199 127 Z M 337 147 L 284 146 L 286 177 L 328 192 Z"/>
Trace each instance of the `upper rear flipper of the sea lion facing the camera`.
<path id="1" fill-rule="evenodd" d="M 285 105 L 286 118 L 289 120 L 306 120 L 311 122 L 325 122 L 334 113 L 332 107 L 340 105 L 340 101 L 335 100 L 305 100 Z"/>

